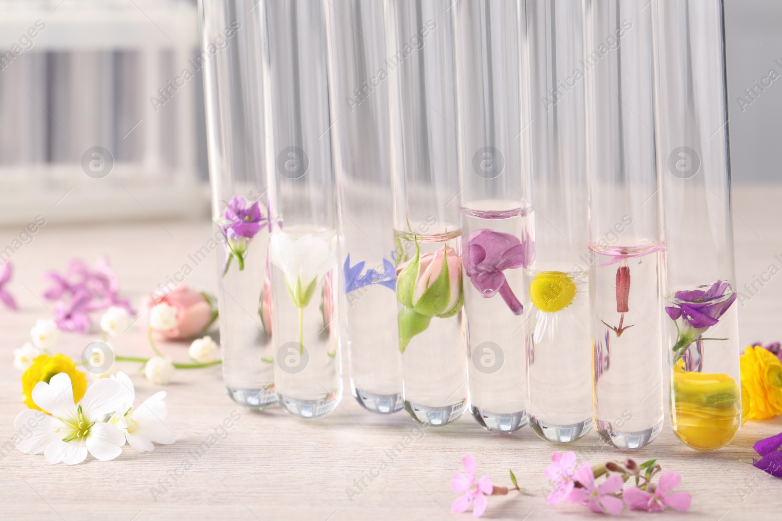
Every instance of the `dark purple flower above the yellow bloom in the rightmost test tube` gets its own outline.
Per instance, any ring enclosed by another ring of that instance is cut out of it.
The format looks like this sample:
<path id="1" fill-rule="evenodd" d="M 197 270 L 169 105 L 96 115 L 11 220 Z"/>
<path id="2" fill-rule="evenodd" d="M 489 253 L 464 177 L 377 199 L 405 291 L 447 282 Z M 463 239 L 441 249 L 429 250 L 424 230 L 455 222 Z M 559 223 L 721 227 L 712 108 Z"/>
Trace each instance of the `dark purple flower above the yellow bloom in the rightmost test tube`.
<path id="1" fill-rule="evenodd" d="M 726 340 L 725 338 L 701 338 L 701 335 L 709 327 L 719 323 L 719 319 L 730 309 L 736 297 L 730 282 L 724 280 L 717 280 L 707 291 L 676 291 L 673 295 L 676 300 L 673 302 L 675 305 L 665 308 L 665 312 L 671 319 L 676 321 L 681 318 L 683 323 L 682 327 L 679 327 L 679 324 L 674 322 L 676 327 L 679 327 L 679 337 L 673 346 L 676 359 L 680 358 L 687 351 L 687 347 L 695 341 Z"/>

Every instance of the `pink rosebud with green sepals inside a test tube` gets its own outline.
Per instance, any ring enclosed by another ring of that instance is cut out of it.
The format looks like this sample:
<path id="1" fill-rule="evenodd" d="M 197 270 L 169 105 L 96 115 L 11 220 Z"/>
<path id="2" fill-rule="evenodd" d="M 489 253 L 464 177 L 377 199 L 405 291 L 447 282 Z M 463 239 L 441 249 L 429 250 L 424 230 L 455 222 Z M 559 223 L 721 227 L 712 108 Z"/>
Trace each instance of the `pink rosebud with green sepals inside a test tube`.
<path id="1" fill-rule="evenodd" d="M 449 246 L 421 255 L 416 239 L 415 257 L 396 267 L 396 300 L 404 306 L 398 317 L 399 350 L 404 353 L 432 317 L 447 319 L 461 309 L 461 257 Z"/>

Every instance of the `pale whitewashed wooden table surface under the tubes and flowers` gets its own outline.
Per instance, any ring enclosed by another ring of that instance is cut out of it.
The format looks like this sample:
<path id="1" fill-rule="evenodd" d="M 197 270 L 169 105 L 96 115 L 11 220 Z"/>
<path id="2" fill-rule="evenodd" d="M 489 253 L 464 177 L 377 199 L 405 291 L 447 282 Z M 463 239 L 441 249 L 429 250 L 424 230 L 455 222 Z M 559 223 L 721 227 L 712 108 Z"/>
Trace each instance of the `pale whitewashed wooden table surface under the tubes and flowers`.
<path id="1" fill-rule="evenodd" d="M 742 345 L 782 339 L 782 276 L 763 287 L 756 284 L 759 291 L 753 295 L 742 289 L 769 265 L 782 267 L 780 200 L 782 185 L 734 190 L 738 287 L 750 297 L 737 302 Z M 0 309 L 2 445 L 13 436 L 13 419 L 24 407 L 13 349 L 29 339 L 35 319 L 51 316 L 45 307 L 51 304 L 37 296 L 45 287 L 42 275 L 47 269 L 62 270 L 74 256 L 94 262 L 99 255 L 109 255 L 121 293 L 134 302 L 185 263 L 194 268 L 185 284 L 210 291 L 216 287 L 214 259 L 198 266 L 188 259 L 210 237 L 206 221 L 58 226 L 56 208 L 30 209 L 30 221 L 38 214 L 47 223 L 12 258 L 16 275 L 8 288 L 16 294 L 20 311 Z M 16 228 L 0 229 L 0 249 L 19 234 Z M 95 339 L 97 335 L 63 334 L 56 351 L 76 358 Z M 149 355 L 135 327 L 114 347 L 124 355 Z M 175 360 L 187 359 L 184 344 L 161 348 Z M 131 375 L 138 397 L 160 390 L 135 372 L 136 364 L 124 363 L 123 369 Z M 485 519 L 586 519 L 595 515 L 583 507 L 546 505 L 540 491 L 547 485 L 543 469 L 551 452 L 573 450 L 590 462 L 626 457 L 605 448 L 594 432 L 567 447 L 555 447 L 529 427 L 513 435 L 490 434 L 468 414 L 449 426 L 417 432 L 404 412 L 376 416 L 364 411 L 350 396 L 347 381 L 345 386 L 347 394 L 335 412 L 305 422 L 280 409 L 249 412 L 235 405 L 224 391 L 219 366 L 178 370 L 164 387 L 168 418 L 177 431 L 175 444 L 158 445 L 150 453 L 126 445 L 113 461 L 88 456 L 77 466 L 51 465 L 43 455 L 23 455 L 0 445 L 0 519 L 470 519 L 469 513 L 450 512 L 456 498 L 450 478 L 461 470 L 466 452 L 475 456 L 479 475 L 486 473 L 504 485 L 511 468 L 519 484 L 535 494 L 491 497 Z M 194 455 L 234 411 L 241 418 L 227 436 Z M 755 441 L 780 430 L 780 418 L 747 423 L 728 447 L 702 453 L 681 444 L 665 425 L 657 440 L 633 457 L 657 457 L 664 469 L 681 473 L 680 488 L 693 495 L 691 512 L 666 512 L 666 519 L 780 519 L 782 480 L 746 463 L 755 454 Z M 188 460 L 192 466 L 182 472 Z M 377 474 L 381 460 L 387 466 L 380 475 L 365 478 L 371 470 Z M 362 478 L 366 487 L 349 498 L 346 489 Z M 165 493 L 153 494 L 153 488 L 163 491 L 165 480 Z M 622 516 L 660 515 L 626 510 Z"/>

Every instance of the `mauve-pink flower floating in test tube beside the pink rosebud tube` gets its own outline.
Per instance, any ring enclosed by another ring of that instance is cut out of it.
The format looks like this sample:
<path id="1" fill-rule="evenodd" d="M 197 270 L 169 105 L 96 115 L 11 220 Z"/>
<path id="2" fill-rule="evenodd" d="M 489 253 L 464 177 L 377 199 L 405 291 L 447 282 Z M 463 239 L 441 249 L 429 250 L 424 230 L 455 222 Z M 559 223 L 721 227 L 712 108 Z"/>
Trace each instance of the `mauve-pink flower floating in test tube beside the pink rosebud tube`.
<path id="1" fill-rule="evenodd" d="M 535 244 L 527 237 L 518 240 L 511 234 L 482 228 L 467 237 L 465 243 L 465 273 L 483 298 L 500 297 L 515 315 L 521 315 L 524 306 L 511 291 L 504 275 L 505 269 L 529 266 L 535 256 Z"/>

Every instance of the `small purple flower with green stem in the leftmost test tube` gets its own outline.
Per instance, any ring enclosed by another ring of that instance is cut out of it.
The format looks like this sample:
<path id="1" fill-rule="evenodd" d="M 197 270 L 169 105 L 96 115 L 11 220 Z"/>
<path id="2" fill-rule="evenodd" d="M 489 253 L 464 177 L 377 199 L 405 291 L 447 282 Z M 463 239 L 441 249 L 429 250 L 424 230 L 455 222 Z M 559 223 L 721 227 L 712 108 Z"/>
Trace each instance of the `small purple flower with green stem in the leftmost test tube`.
<path id="1" fill-rule="evenodd" d="M 234 195 L 225 209 L 225 218 L 215 220 L 225 237 L 227 257 L 223 276 L 228 273 L 228 267 L 234 257 L 239 264 L 239 271 L 242 271 L 249 242 L 260 231 L 260 227 L 268 223 L 268 219 L 260 211 L 257 201 L 248 206 L 245 198 Z"/>

